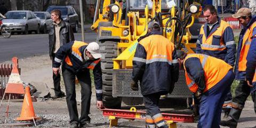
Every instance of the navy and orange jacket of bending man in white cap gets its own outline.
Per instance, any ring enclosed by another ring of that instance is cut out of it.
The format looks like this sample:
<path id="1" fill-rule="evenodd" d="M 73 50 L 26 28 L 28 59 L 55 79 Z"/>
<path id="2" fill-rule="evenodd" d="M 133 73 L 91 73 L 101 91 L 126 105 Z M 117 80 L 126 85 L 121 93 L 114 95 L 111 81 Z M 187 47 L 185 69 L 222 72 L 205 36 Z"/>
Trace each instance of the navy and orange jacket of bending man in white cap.
<path id="1" fill-rule="evenodd" d="M 97 100 L 102 100 L 102 72 L 100 59 L 84 60 L 83 52 L 86 46 L 87 43 L 80 41 L 73 41 L 61 46 L 55 55 L 53 67 L 60 67 L 62 62 L 62 68 L 66 68 L 74 74 L 93 69 L 96 97 Z M 91 81 L 91 79 L 85 79 L 85 81 Z"/>

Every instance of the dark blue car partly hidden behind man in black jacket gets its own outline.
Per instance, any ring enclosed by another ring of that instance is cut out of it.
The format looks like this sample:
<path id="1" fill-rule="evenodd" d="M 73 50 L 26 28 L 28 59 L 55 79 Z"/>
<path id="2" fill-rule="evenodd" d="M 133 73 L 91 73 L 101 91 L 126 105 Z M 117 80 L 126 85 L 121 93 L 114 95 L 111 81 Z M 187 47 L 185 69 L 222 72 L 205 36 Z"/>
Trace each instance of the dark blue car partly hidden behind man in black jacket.
<path id="1" fill-rule="evenodd" d="M 72 6 L 49 6 L 46 10 L 51 13 L 52 10 L 58 9 L 61 12 L 61 18 L 69 22 L 70 26 L 73 28 L 73 31 L 77 33 L 78 30 L 78 15 Z"/>

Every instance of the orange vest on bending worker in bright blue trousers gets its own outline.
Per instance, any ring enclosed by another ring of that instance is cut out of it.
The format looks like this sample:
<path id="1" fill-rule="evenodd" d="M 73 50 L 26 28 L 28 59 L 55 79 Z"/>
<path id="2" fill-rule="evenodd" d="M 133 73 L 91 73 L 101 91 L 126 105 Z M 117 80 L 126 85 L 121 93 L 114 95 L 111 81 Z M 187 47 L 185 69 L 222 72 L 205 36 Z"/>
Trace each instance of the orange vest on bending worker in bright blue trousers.
<path id="1" fill-rule="evenodd" d="M 202 68 L 204 70 L 205 76 L 205 90 L 211 89 L 214 85 L 221 81 L 223 77 L 226 76 L 228 71 L 232 68 L 228 63 L 223 60 L 211 57 L 205 54 L 189 54 L 184 63 L 188 58 L 198 58 L 201 62 Z M 186 82 L 189 87 L 189 90 L 193 93 L 196 93 L 198 85 L 195 83 L 193 77 L 191 77 L 186 70 L 185 64 L 183 65 L 185 69 Z"/>

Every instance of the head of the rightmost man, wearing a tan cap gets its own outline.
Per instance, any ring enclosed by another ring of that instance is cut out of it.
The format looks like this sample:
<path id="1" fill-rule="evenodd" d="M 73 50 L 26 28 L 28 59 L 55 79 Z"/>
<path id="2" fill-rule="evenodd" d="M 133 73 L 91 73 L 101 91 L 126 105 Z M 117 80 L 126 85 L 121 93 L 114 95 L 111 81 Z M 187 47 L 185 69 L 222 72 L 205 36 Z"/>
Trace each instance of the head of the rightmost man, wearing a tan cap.
<path id="1" fill-rule="evenodd" d="M 242 7 L 235 14 L 233 14 L 232 17 L 237 18 L 239 23 L 246 27 L 252 19 L 252 12 L 249 8 Z"/>

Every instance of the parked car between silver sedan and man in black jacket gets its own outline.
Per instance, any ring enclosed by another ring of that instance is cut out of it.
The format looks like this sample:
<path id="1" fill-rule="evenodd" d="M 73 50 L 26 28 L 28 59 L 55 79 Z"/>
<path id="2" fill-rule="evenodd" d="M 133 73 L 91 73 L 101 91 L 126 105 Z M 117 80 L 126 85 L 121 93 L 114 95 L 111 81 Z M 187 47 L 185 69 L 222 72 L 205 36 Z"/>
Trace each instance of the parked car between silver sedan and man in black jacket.
<path id="1" fill-rule="evenodd" d="M 41 21 L 40 23 L 40 31 L 42 33 L 47 33 L 50 30 L 50 26 L 52 25 L 51 14 L 49 12 L 34 12 L 36 17 L 38 17 Z"/>

